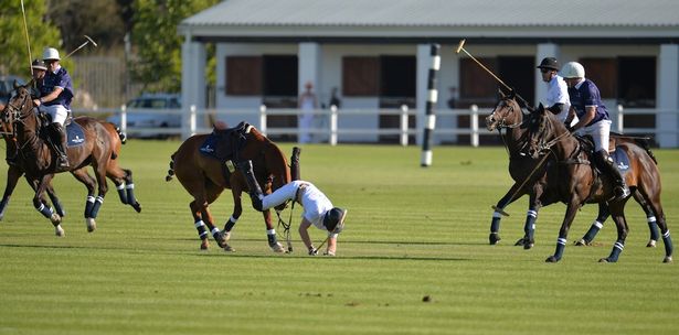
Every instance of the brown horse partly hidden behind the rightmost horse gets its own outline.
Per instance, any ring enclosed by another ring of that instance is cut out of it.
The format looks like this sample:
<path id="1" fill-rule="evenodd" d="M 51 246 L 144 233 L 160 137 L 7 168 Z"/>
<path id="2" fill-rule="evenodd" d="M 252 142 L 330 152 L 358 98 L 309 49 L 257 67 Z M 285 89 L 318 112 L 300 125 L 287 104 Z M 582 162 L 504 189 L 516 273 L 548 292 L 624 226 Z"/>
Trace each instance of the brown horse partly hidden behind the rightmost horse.
<path id="1" fill-rule="evenodd" d="M 516 245 L 522 245 L 523 248 L 530 249 L 534 242 L 534 225 L 538 219 L 540 207 L 559 202 L 556 194 L 553 192 L 550 193 L 551 190 L 548 188 L 547 183 L 548 173 L 554 174 L 559 172 L 555 161 L 553 159 L 548 159 L 547 162 L 542 162 L 541 166 L 538 166 L 538 164 L 541 163 L 541 160 L 533 160 L 524 153 L 524 151 L 527 151 L 526 147 L 528 145 L 528 133 L 526 130 L 526 125 L 523 125 L 523 110 L 516 100 L 513 93 L 510 95 L 505 95 L 500 91 L 500 101 L 495 107 L 492 112 L 486 118 L 486 128 L 490 131 L 497 129 L 502 138 L 509 153 L 509 174 L 514 180 L 514 184 L 509 188 L 509 191 L 507 191 L 505 196 L 500 198 L 495 207 L 497 209 L 492 215 L 492 221 L 490 224 L 489 241 L 491 245 L 496 245 L 500 240 L 499 229 L 501 216 L 505 215 L 503 209 L 518 198 L 529 194 L 529 208 L 523 227 L 526 235 L 519 239 Z M 502 129 L 506 130 L 505 134 L 502 134 Z M 628 140 L 623 137 L 617 138 L 617 141 L 626 141 L 636 145 L 633 140 Z M 646 204 L 638 192 L 634 192 L 633 196 L 635 201 L 639 203 L 647 216 L 650 239 L 646 246 L 655 247 L 656 241 L 659 238 L 656 218 L 650 207 Z M 607 204 L 600 203 L 596 219 L 592 224 L 590 230 L 581 240 L 577 241 L 577 244 L 590 245 L 598 233 L 598 229 L 601 229 L 609 216 L 611 213 Z"/>

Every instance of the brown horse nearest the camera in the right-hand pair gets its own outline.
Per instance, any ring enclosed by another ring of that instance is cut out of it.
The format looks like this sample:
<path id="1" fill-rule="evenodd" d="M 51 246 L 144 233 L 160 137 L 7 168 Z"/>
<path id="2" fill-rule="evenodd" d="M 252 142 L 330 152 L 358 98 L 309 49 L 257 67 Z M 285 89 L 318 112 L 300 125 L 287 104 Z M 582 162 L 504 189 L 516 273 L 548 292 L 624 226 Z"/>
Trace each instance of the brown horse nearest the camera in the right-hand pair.
<path id="1" fill-rule="evenodd" d="M 563 256 L 569 228 L 575 218 L 577 209 L 585 203 L 607 203 L 617 227 L 617 241 L 603 262 L 616 262 L 627 237 L 627 220 L 625 219 L 625 204 L 629 196 L 618 199 L 613 191 L 613 181 L 607 175 L 600 175 L 590 163 L 590 154 L 583 150 L 581 141 L 571 134 L 556 117 L 540 106 L 528 122 L 529 154 L 538 159 L 542 154 L 555 158 L 558 174 L 549 179 L 549 187 L 553 187 L 559 199 L 566 204 L 566 213 L 559 231 L 556 250 L 550 256 L 548 262 L 556 262 Z M 637 190 L 657 218 L 658 227 L 665 244 L 664 262 L 672 261 L 672 241 L 665 221 L 665 213 L 660 204 L 660 172 L 654 159 L 644 149 L 630 143 L 618 143 L 616 151 L 620 150 L 628 160 L 629 170 L 624 177 L 630 190 Z"/>

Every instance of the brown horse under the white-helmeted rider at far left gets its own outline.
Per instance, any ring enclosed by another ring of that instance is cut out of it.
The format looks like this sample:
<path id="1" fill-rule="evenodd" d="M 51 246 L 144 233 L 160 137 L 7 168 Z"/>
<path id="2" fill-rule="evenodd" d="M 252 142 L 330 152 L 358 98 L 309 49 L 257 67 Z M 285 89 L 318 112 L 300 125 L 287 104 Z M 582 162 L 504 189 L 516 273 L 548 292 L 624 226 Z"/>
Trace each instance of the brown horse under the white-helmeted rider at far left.
<path id="1" fill-rule="evenodd" d="M 23 172 L 26 179 L 36 183 L 33 205 L 43 216 L 51 219 L 56 235 L 63 236 L 64 230 L 61 227 L 61 216 L 53 213 L 41 201 L 43 193 L 54 177 L 54 173 L 63 171 L 56 170 L 53 152 L 40 136 L 42 126 L 31 99 L 31 84 L 14 86 L 17 94 L 10 99 L 7 108 L 2 111 L 1 119 L 4 123 L 4 129 L 10 129 L 15 136 L 17 145 L 20 148 L 18 153 L 21 155 Z M 115 127 L 107 128 L 89 117 L 75 118 L 73 121 L 82 127 L 84 139 L 82 145 L 67 147 L 66 154 L 71 165 L 68 171 L 87 187 L 85 223 L 88 231 L 96 229 L 95 218 L 108 191 L 106 176 L 112 179 L 116 186 L 118 186 L 121 199 L 123 194 L 125 195 L 124 203 L 131 205 L 137 212 L 140 212 L 141 206 L 134 195 L 131 172 L 120 169 L 116 161 L 116 152 L 120 150 L 121 139 Z M 96 180 L 87 173 L 87 165 L 94 168 Z M 95 198 L 94 190 L 97 185 L 98 195 Z"/>

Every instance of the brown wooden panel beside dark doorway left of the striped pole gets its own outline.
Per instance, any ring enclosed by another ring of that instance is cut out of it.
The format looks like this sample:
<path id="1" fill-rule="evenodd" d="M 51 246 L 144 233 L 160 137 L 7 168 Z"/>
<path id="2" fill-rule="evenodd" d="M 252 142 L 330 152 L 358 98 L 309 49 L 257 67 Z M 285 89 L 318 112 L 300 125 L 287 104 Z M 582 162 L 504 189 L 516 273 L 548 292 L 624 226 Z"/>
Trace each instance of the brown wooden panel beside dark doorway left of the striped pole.
<path id="1" fill-rule="evenodd" d="M 379 65 L 378 57 L 342 57 L 342 95 L 378 96 Z"/>

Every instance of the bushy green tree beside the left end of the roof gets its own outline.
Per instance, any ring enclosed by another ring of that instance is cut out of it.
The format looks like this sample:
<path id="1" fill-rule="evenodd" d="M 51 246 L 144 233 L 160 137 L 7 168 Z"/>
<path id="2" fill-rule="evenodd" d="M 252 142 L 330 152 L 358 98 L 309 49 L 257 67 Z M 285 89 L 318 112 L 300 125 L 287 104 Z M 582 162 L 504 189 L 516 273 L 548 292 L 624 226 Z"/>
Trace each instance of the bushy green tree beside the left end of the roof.
<path id="1" fill-rule="evenodd" d="M 135 2 L 132 43 L 138 55 L 132 74 L 145 90 L 181 89 L 181 45 L 178 24 L 218 0 L 139 0 Z M 209 61 L 211 63 L 211 61 Z M 212 68 L 209 68 L 212 71 Z M 213 75 L 212 75 L 213 76 Z"/>

